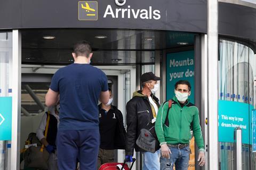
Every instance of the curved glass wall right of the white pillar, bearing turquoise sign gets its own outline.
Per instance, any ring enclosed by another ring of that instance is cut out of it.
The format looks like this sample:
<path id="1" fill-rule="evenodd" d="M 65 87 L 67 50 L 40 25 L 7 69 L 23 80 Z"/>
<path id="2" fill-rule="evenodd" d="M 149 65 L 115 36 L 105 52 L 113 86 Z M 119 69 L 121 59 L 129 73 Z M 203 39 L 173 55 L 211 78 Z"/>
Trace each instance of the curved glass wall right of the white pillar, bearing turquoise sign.
<path id="1" fill-rule="evenodd" d="M 250 122 L 252 109 L 255 108 L 253 86 L 255 55 L 248 45 L 235 41 L 220 39 L 219 45 L 219 141 L 221 169 L 235 169 L 234 141 L 229 141 L 228 138 L 223 139 L 221 134 L 229 131 L 234 132 L 236 126 L 241 127 L 243 135 L 243 169 L 252 169 L 250 168 L 250 163 L 253 162 L 250 161 L 250 158 L 252 160 L 250 154 L 252 153 L 250 151 Z M 235 110 L 225 113 L 222 112 L 223 104 L 220 103 L 226 104 L 224 107 L 228 108 L 228 110 L 233 109 L 231 106 L 237 107 L 238 105 L 243 106 L 245 109 L 242 112 Z M 235 119 L 230 120 L 232 117 Z M 236 118 L 243 118 L 243 121 L 239 122 Z M 226 136 L 229 134 L 226 133 Z M 233 133 L 230 134 L 230 137 L 232 136 Z"/>

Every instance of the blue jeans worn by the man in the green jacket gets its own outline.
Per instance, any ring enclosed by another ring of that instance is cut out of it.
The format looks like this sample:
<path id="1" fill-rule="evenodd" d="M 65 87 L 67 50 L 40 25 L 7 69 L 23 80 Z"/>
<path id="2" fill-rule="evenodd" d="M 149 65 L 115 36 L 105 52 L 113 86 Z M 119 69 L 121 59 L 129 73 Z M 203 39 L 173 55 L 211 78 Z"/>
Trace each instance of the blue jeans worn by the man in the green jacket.
<path id="1" fill-rule="evenodd" d="M 188 169 L 188 163 L 189 163 L 189 146 L 178 149 L 178 148 L 172 148 L 169 147 L 171 150 L 170 154 L 170 159 L 168 158 L 163 158 L 162 156 L 160 157 L 160 166 L 161 170 L 166 169 L 166 164 L 171 164 L 171 170 L 173 169 L 173 166 L 175 164 L 175 169 L 176 170 L 187 170 Z"/>

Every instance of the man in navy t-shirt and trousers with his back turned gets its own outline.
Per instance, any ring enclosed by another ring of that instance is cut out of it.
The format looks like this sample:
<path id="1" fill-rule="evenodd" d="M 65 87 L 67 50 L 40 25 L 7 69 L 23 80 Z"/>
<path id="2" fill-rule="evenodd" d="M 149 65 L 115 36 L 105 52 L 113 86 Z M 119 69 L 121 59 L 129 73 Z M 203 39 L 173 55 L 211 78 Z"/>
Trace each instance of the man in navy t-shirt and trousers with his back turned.
<path id="1" fill-rule="evenodd" d="M 59 169 L 95 170 L 99 150 L 98 100 L 108 103 L 108 80 L 98 68 L 90 65 L 92 48 L 78 42 L 72 53 L 74 63 L 60 68 L 52 77 L 45 96 L 47 107 L 60 95 L 60 124 L 57 134 Z"/>

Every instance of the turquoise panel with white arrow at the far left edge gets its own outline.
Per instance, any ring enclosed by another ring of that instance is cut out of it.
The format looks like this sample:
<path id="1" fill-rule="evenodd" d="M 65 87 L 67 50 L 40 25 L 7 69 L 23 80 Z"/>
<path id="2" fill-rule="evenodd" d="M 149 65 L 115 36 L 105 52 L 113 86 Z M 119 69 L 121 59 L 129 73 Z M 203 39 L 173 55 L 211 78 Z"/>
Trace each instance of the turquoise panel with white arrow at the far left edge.
<path id="1" fill-rule="evenodd" d="M 12 139 L 12 97 L 0 97 L 0 141 Z"/>

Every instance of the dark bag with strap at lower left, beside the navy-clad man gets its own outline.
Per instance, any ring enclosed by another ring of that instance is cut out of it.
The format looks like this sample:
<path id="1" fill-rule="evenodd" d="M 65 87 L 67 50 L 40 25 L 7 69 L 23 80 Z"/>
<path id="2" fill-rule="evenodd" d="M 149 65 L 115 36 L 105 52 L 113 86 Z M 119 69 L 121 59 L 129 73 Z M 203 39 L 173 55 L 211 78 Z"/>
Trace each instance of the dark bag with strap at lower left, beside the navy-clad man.
<path id="1" fill-rule="evenodd" d="M 46 127 L 45 127 L 45 139 L 47 137 L 47 131 L 50 122 L 50 112 L 47 113 Z M 50 153 L 44 148 L 44 145 L 39 141 L 36 133 L 29 133 L 28 139 L 25 142 L 25 148 L 23 149 L 23 160 L 25 168 L 36 169 L 48 169 L 48 159 Z"/>

